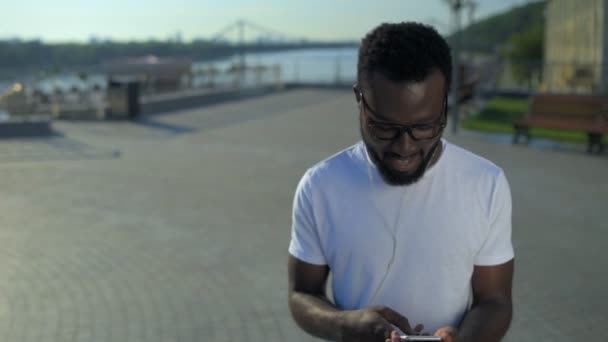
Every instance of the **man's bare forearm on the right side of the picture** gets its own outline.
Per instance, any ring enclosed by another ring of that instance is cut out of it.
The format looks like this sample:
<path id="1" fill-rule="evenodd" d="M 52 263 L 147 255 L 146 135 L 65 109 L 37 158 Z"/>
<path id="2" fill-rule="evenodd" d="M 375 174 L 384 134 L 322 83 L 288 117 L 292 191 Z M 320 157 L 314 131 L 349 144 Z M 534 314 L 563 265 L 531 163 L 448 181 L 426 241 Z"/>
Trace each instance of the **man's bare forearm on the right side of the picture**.
<path id="1" fill-rule="evenodd" d="M 458 329 L 460 342 L 498 342 L 506 334 L 511 303 L 487 302 L 473 306 Z"/>

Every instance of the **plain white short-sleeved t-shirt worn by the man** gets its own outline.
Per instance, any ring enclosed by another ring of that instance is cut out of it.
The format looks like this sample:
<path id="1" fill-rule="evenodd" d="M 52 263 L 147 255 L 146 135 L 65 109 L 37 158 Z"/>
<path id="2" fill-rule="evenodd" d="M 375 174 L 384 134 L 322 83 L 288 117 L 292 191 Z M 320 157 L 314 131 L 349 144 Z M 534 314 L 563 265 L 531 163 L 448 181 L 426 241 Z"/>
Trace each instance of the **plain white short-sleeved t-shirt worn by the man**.
<path id="1" fill-rule="evenodd" d="M 473 267 L 513 258 L 503 171 L 442 143 L 441 157 L 409 186 L 386 184 L 363 142 L 302 177 L 289 253 L 329 266 L 338 308 L 385 305 L 428 332 L 458 326 Z"/>

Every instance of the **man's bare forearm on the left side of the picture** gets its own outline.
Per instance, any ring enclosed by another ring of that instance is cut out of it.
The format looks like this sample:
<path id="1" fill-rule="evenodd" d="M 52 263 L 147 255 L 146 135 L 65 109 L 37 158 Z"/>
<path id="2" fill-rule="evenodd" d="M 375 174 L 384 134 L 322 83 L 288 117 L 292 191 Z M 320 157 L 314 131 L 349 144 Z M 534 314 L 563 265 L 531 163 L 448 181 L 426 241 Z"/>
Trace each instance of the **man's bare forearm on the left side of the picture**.
<path id="1" fill-rule="evenodd" d="M 294 320 L 309 334 L 330 341 L 341 339 L 342 311 L 326 297 L 293 292 L 289 308 Z"/>

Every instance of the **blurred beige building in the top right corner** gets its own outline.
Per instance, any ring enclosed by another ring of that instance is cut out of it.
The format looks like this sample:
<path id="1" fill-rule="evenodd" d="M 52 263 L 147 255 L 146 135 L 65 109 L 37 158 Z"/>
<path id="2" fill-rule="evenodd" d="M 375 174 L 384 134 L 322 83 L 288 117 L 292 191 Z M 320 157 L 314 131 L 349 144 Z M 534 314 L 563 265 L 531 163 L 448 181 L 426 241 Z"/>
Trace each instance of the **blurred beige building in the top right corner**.
<path id="1" fill-rule="evenodd" d="M 608 93 L 608 0 L 548 0 L 543 83 L 549 92 Z"/>

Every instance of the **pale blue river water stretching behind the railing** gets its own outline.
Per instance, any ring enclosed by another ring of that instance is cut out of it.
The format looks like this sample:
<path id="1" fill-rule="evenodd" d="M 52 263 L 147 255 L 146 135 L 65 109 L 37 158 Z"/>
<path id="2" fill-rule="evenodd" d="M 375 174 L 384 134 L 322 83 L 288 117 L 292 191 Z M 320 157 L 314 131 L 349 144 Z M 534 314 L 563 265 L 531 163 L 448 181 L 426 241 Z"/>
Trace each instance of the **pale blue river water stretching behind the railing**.
<path id="1" fill-rule="evenodd" d="M 245 60 L 249 66 L 273 66 L 281 68 L 280 79 L 287 83 L 353 83 L 356 79 L 357 48 L 331 48 L 331 49 L 300 49 L 280 52 L 248 53 Z M 212 62 L 195 62 L 192 65 L 194 85 L 203 85 L 206 80 L 196 76 L 197 72 L 213 67 L 219 71 L 216 82 L 228 83 L 232 79 L 226 71 L 238 64 L 238 55 Z M 266 82 L 272 81 L 271 72 L 264 76 Z M 24 76 L 20 82 L 25 84 L 28 92 L 33 88 L 45 94 L 51 94 L 54 89 L 63 93 L 74 90 L 86 91 L 94 87 L 105 89 L 107 80 L 104 74 L 89 74 L 85 80 L 80 79 L 76 73 L 64 73 L 55 77 L 35 79 Z M 13 82 L 0 80 L 0 94 L 7 90 Z"/>

